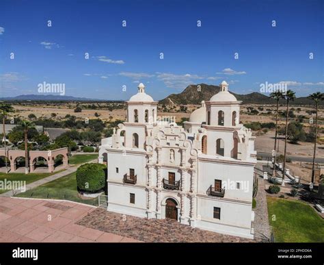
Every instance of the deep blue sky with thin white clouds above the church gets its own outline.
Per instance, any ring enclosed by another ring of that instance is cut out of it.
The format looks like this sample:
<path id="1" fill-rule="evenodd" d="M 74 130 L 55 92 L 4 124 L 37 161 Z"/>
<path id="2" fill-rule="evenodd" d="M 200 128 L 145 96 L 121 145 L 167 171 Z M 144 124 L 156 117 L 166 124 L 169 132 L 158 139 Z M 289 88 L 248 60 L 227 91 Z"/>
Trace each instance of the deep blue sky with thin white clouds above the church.
<path id="1" fill-rule="evenodd" d="M 44 81 L 96 99 L 129 99 L 139 81 L 154 99 L 224 79 L 239 94 L 266 81 L 286 82 L 297 96 L 324 90 L 321 0 L 0 5 L 1 97 L 37 94 Z"/>

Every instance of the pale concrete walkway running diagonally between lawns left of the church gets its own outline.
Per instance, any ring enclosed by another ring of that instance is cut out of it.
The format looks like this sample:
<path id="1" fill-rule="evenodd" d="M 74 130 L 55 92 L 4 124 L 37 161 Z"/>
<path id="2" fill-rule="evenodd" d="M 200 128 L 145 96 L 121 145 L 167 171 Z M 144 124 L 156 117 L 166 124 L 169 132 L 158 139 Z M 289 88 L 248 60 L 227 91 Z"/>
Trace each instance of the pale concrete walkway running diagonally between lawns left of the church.
<path id="1" fill-rule="evenodd" d="M 92 160 L 83 164 L 87 164 L 87 163 L 94 163 L 97 160 Z M 71 173 L 75 173 L 75 171 L 77 171 L 77 168 L 79 168 L 79 166 L 81 166 L 82 164 L 79 164 L 77 166 L 70 166 L 69 168 L 67 168 L 65 171 L 56 173 L 54 175 L 51 175 L 49 177 L 44 177 L 44 179 L 39 179 L 37 181 L 33 181 L 30 184 L 26 185 L 26 191 L 27 190 L 31 190 L 33 188 L 36 188 L 38 186 L 41 186 L 43 184 L 49 183 L 55 179 L 59 179 L 60 177 L 64 177 L 66 175 L 69 175 Z M 28 176 L 28 175 L 27 175 Z M 12 197 L 12 196 L 16 196 L 18 194 L 21 193 L 21 190 L 9 190 L 8 192 L 4 192 L 2 194 L 0 194 L 1 197 Z"/>

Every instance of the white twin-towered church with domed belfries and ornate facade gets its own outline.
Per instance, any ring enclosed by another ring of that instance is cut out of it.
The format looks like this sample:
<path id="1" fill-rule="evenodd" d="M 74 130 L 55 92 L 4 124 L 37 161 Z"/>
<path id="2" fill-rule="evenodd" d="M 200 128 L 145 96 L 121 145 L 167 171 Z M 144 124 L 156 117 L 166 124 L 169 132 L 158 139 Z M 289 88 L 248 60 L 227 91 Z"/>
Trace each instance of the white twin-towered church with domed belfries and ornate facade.
<path id="1" fill-rule="evenodd" d="M 126 122 L 99 150 L 108 211 L 253 238 L 255 138 L 239 123 L 241 101 L 220 86 L 181 127 L 158 121 L 158 102 L 139 84 Z"/>

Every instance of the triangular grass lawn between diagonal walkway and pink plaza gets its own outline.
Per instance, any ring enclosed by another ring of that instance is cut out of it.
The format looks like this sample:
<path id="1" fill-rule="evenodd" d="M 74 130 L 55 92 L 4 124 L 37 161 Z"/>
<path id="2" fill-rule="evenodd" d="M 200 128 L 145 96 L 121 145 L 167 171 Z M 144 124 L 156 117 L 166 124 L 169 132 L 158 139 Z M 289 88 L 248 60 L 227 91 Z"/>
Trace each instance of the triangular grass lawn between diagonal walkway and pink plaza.
<path id="1" fill-rule="evenodd" d="M 83 155 L 81 155 L 83 156 Z M 27 192 L 18 194 L 18 197 L 40 198 L 40 199 L 65 199 L 78 203 L 98 205 L 98 198 L 82 199 L 77 191 L 76 173 L 60 177 L 49 183 L 43 184 Z"/>

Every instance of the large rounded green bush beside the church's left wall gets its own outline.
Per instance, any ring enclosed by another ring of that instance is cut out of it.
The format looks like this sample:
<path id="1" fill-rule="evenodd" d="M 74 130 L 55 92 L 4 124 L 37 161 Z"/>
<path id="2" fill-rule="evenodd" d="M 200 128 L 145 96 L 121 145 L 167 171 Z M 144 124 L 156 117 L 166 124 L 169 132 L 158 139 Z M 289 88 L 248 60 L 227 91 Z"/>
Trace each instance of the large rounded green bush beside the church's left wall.
<path id="1" fill-rule="evenodd" d="M 82 192 L 103 190 L 106 184 L 106 168 L 104 164 L 83 164 L 77 169 L 77 187 Z"/>

